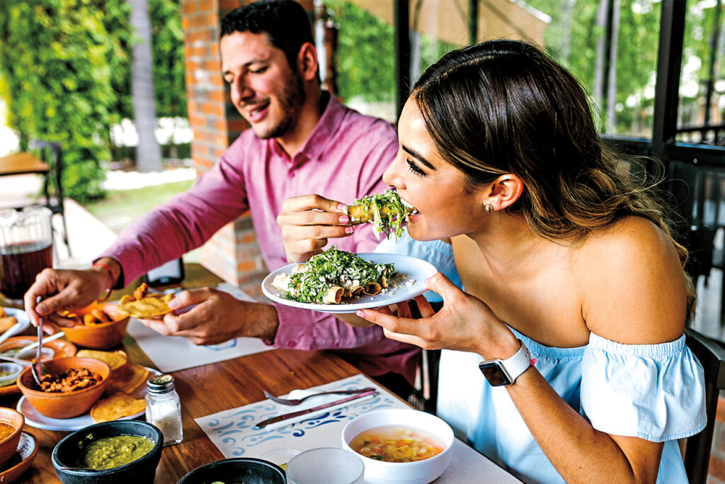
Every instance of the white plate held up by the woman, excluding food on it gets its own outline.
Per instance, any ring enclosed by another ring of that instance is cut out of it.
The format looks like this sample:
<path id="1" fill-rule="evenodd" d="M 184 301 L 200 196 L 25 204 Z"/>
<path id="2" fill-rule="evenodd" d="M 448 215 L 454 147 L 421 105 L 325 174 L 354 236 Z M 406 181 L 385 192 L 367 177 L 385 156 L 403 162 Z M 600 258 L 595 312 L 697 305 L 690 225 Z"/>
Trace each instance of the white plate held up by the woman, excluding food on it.
<path id="1" fill-rule="evenodd" d="M 265 296 L 273 300 L 275 303 L 283 305 L 289 305 L 293 308 L 310 309 L 312 311 L 320 311 L 323 313 L 355 313 L 358 309 L 369 309 L 369 308 L 380 308 L 381 306 L 399 303 L 408 299 L 415 298 L 417 295 L 426 292 L 426 279 L 436 274 L 438 269 L 428 261 L 410 257 L 408 255 L 399 254 L 383 254 L 383 253 L 363 253 L 357 254 L 365 261 L 370 261 L 378 264 L 394 263 L 395 270 L 407 274 L 408 279 L 413 279 L 413 284 L 403 285 L 395 290 L 389 290 L 382 294 L 370 296 L 360 296 L 354 300 L 353 303 L 342 303 L 342 304 L 310 304 L 310 303 L 299 303 L 294 300 L 285 299 L 282 297 L 282 292 L 276 287 L 272 286 L 272 281 L 277 274 L 289 273 L 292 271 L 294 266 L 297 264 L 289 264 L 287 266 L 278 268 L 273 271 L 265 280 L 262 281 L 262 292 Z"/>

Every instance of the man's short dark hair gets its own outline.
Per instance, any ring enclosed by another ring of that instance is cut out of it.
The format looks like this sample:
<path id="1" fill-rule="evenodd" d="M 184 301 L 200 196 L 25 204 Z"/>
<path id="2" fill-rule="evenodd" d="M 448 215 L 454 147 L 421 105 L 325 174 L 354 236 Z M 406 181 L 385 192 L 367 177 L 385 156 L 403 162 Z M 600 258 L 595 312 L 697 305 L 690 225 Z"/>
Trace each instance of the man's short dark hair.
<path id="1" fill-rule="evenodd" d="M 281 49 L 292 70 L 297 53 L 306 42 L 312 43 L 312 28 L 307 12 L 294 0 L 260 0 L 233 9 L 222 19 L 221 36 L 235 32 L 264 32 L 270 44 Z"/>

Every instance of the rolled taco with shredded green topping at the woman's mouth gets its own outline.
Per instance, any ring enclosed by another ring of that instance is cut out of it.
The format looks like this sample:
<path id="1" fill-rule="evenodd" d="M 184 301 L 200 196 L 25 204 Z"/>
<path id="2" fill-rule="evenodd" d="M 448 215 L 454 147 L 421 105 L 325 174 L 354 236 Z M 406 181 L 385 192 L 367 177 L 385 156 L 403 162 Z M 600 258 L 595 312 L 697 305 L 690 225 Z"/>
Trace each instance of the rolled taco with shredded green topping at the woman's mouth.
<path id="1" fill-rule="evenodd" d="M 385 234 L 387 238 L 398 239 L 403 234 L 402 223 L 408 221 L 408 216 L 418 210 L 402 200 L 399 195 L 386 190 L 382 194 L 367 195 L 352 202 L 345 207 L 345 213 L 353 222 L 372 223 L 376 234 Z"/>

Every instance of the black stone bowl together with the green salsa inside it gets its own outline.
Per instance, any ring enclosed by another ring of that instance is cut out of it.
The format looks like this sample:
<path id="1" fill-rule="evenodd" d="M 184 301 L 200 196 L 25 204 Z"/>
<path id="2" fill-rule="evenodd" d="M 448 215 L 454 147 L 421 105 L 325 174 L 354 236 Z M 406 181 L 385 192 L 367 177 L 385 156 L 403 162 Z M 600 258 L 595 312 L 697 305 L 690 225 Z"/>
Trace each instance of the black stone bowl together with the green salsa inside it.
<path id="1" fill-rule="evenodd" d="M 148 422 L 102 422 L 67 435 L 51 461 L 64 484 L 151 484 L 163 441 L 161 430 Z"/>

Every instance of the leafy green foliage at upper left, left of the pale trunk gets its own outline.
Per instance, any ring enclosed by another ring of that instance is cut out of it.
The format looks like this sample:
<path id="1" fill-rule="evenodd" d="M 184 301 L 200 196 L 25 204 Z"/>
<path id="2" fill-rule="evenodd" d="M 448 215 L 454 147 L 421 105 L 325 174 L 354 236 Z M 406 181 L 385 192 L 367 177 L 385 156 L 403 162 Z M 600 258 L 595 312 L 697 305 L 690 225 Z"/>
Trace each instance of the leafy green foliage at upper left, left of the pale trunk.
<path id="1" fill-rule="evenodd" d="M 7 85 L 9 124 L 28 140 L 61 141 L 67 194 L 102 194 L 114 109 L 113 67 L 128 62 L 130 30 L 122 0 L 0 2 L 0 75 Z M 109 30 L 109 25 L 120 28 Z"/>

